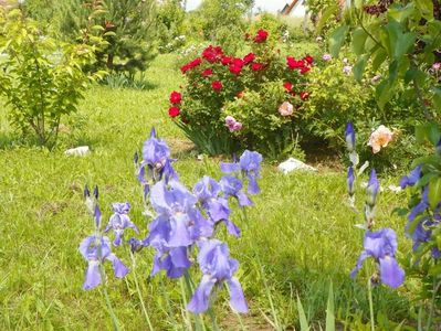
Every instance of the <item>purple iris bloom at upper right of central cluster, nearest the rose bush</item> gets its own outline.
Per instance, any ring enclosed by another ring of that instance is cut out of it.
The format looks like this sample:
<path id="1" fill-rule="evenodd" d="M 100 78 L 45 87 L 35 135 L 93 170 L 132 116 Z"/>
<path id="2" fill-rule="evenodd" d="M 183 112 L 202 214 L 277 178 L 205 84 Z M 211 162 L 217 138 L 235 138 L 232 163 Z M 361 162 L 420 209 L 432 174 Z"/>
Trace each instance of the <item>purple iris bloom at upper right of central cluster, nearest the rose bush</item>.
<path id="1" fill-rule="evenodd" d="M 259 194 L 260 188 L 256 179 L 260 178 L 260 169 L 261 169 L 262 156 L 256 151 L 245 150 L 239 159 L 239 163 L 221 163 L 221 170 L 224 173 L 232 173 L 243 171 L 246 175 L 248 183 L 248 193 L 250 194 Z"/>

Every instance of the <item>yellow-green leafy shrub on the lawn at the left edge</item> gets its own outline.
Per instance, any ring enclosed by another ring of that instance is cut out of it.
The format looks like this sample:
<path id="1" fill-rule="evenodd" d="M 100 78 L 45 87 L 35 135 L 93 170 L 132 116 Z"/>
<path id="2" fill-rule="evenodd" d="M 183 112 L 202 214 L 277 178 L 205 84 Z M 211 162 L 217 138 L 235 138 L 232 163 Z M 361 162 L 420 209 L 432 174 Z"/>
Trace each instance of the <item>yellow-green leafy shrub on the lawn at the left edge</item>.
<path id="1" fill-rule="evenodd" d="M 61 117 L 76 111 L 87 82 L 82 66 L 94 61 L 84 44 L 57 43 L 20 10 L 0 17 L 0 93 L 9 118 L 23 134 L 33 131 L 40 145 L 52 147 Z"/>

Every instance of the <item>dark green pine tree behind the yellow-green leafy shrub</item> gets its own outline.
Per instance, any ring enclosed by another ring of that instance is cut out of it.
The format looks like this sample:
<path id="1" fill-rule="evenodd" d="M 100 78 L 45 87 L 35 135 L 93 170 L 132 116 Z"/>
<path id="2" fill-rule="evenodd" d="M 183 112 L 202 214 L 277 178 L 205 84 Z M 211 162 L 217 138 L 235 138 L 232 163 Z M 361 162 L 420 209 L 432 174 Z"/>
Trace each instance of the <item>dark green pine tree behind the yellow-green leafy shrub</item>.
<path id="1" fill-rule="evenodd" d="M 62 10 L 61 33 L 71 41 L 103 38 L 97 67 L 116 72 L 145 71 L 156 56 L 156 1 L 70 0 Z"/>

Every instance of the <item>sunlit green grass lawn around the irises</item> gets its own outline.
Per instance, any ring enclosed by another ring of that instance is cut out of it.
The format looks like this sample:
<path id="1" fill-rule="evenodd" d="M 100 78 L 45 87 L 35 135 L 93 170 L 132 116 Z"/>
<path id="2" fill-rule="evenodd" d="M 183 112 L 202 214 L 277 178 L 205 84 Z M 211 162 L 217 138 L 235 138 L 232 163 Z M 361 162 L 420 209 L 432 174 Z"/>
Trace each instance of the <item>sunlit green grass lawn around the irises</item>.
<path id="1" fill-rule="evenodd" d="M 105 218 L 111 215 L 112 202 L 129 201 L 130 217 L 144 237 L 146 220 L 140 214 L 141 195 L 132 160 L 153 126 L 178 159 L 176 169 L 182 182 L 192 185 L 203 174 L 220 179 L 219 159 L 198 160 L 191 143 L 167 116 L 168 95 L 182 84 L 174 63 L 171 55 L 153 63 L 147 73 L 151 88 L 147 90 L 92 87 L 73 122 L 64 124 L 53 152 L 14 143 L 19 138 L 1 120 L 0 330 L 112 329 L 101 289 L 82 290 L 86 263 L 77 247 L 93 232 L 82 189 L 85 183 L 101 188 Z M 4 118 L 4 110 L 0 115 Z M 88 145 L 92 153 L 64 156 L 65 149 L 78 145 Z M 388 186 L 397 178 L 381 182 Z M 273 164 L 264 164 L 262 194 L 253 197 L 255 207 L 248 211 L 248 220 L 239 211 L 233 216 L 243 236 L 235 239 L 221 234 L 241 263 L 239 277 L 250 303 L 250 313 L 242 320 L 249 330 L 296 328 L 297 296 L 309 321 L 317 329 L 324 327 L 330 282 L 340 325 L 351 321 L 348 330 L 368 328 L 360 321 L 368 321 L 366 280 L 374 266 L 366 265 L 355 280 L 349 278 L 361 249 L 361 231 L 354 225 L 363 223 L 363 216 L 346 205 L 345 185 L 344 172 L 284 175 Z M 397 231 L 402 252 L 410 246 L 403 236 L 406 220 L 390 213 L 403 204 L 405 196 L 388 191 L 381 194 L 377 217 L 378 227 Z M 128 252 L 116 252 L 129 264 Z M 149 278 L 151 257 L 151 249 L 143 250 L 136 270 L 155 329 L 189 329 L 179 280 L 170 281 L 164 274 Z M 193 277 L 199 280 L 198 273 Z M 407 281 L 396 291 L 376 288 L 377 317 L 411 324 L 412 286 Z M 111 277 L 108 289 L 124 329 L 146 330 L 133 274 L 125 280 Z M 240 329 L 224 292 L 214 310 L 223 329 Z M 392 329 L 386 322 L 384 328 Z"/>

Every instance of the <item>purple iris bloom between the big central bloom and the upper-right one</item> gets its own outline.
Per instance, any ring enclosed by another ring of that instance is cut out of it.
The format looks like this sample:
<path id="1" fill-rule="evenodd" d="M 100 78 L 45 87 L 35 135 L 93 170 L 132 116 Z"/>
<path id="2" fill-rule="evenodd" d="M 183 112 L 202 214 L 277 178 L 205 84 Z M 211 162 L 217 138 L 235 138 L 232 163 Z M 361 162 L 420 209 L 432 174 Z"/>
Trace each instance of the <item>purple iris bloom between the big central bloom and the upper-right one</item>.
<path id="1" fill-rule="evenodd" d="M 209 217 L 216 224 L 222 221 L 225 222 L 229 233 L 238 237 L 240 236 L 240 229 L 230 221 L 228 200 L 219 196 L 221 192 L 221 185 L 208 175 L 204 175 L 193 188 L 195 195 L 207 211 Z"/>

